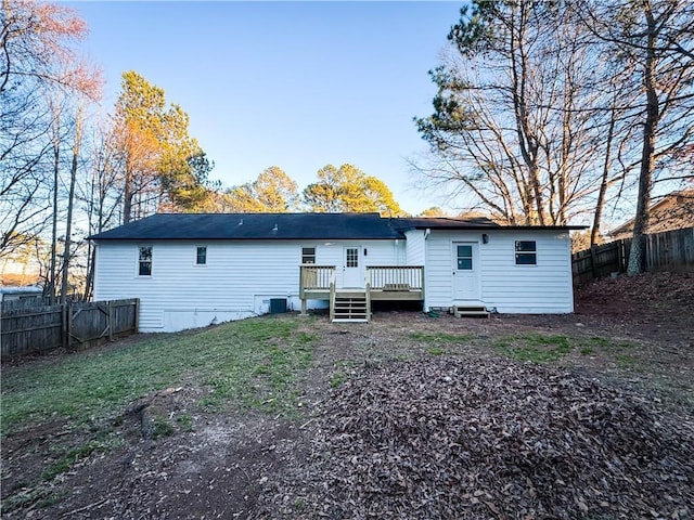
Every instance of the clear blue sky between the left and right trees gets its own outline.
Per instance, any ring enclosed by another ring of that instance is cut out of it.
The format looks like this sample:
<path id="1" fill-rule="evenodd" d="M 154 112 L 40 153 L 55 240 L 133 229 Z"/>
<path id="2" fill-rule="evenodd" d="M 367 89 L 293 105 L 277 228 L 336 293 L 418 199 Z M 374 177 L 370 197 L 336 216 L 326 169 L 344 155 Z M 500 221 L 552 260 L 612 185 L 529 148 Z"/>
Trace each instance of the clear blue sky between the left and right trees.
<path id="1" fill-rule="evenodd" d="M 401 207 L 441 205 L 407 158 L 426 150 L 412 118 L 432 112 L 439 63 L 462 2 L 65 2 L 88 23 L 81 47 L 106 79 L 162 87 L 224 186 L 279 166 L 299 188 L 351 162 Z"/>

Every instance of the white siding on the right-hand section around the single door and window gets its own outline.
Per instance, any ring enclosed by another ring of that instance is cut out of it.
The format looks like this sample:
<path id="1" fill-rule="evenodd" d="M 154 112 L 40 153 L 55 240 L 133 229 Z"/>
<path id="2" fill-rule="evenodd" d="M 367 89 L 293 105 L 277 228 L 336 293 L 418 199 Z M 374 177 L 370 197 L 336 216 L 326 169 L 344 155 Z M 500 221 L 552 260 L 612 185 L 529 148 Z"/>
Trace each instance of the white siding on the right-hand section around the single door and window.
<path id="1" fill-rule="evenodd" d="M 481 303 L 500 313 L 574 312 L 570 246 L 567 232 L 436 232 L 426 242 L 426 307 L 451 307 L 452 242 L 479 243 Z M 515 240 L 535 240 L 537 265 L 515 264 Z"/>

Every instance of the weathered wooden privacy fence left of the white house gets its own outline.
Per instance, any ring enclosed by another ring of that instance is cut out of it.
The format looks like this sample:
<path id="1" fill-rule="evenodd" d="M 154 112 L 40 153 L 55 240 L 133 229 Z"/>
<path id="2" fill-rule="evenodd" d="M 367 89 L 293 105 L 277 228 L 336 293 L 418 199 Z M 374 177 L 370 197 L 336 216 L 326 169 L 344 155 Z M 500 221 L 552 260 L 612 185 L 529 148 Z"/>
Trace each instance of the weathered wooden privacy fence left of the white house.
<path id="1" fill-rule="evenodd" d="M 137 298 L 14 309 L 9 303 L 0 320 L 2 356 L 86 348 L 138 332 Z"/>

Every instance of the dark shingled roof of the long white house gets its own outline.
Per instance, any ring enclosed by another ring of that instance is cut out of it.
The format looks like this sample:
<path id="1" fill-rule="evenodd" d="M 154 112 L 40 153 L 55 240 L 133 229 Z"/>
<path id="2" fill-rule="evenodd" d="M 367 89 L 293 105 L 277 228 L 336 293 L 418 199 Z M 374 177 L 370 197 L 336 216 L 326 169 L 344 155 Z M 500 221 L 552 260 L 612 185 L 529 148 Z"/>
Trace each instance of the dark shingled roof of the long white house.
<path id="1" fill-rule="evenodd" d="M 569 230 L 501 226 L 488 219 L 383 218 L 378 213 L 158 213 L 92 235 L 93 240 L 391 239 L 414 229 Z"/>

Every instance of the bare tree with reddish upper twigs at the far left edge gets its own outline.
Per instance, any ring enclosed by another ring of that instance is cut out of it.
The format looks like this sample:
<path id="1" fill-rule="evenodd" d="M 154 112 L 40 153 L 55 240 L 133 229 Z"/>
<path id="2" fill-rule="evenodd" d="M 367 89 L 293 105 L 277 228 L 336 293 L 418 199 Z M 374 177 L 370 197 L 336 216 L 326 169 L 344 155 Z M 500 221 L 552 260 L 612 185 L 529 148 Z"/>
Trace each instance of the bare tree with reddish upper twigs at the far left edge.
<path id="1" fill-rule="evenodd" d="M 95 95 L 101 81 L 73 50 L 87 32 L 73 10 L 2 0 L 0 24 L 0 255 L 5 255 L 34 242 L 50 222 L 54 121 L 46 100 L 59 91 Z"/>

